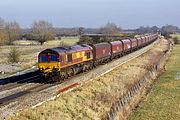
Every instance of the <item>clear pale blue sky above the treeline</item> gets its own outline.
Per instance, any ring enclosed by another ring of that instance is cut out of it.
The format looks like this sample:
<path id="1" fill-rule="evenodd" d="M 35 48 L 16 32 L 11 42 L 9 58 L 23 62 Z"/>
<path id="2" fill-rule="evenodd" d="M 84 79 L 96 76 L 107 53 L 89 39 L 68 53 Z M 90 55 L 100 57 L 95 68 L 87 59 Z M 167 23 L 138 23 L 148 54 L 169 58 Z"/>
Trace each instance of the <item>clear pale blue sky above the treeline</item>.
<path id="1" fill-rule="evenodd" d="M 124 29 L 140 26 L 180 27 L 180 0 L 1 0 L 0 17 L 31 27 L 47 20 L 56 27 L 102 27 L 113 22 Z"/>

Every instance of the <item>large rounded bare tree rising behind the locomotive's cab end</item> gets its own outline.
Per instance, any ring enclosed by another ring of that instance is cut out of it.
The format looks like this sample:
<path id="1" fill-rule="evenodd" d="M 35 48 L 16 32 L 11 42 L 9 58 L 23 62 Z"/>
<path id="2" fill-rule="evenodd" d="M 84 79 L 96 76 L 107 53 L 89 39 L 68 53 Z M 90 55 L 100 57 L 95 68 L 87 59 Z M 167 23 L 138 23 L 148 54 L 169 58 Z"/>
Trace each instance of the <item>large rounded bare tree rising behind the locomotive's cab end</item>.
<path id="1" fill-rule="evenodd" d="M 54 39 L 55 32 L 53 25 L 48 21 L 35 21 L 32 25 L 32 35 L 43 45 L 47 40 Z"/>

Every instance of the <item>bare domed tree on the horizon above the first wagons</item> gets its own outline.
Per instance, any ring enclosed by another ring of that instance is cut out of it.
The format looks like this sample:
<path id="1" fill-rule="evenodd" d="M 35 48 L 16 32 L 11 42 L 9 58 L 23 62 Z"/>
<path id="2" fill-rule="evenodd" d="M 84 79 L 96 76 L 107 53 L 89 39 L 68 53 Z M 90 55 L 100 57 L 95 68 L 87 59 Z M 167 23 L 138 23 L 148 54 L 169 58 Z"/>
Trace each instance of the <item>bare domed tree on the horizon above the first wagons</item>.
<path id="1" fill-rule="evenodd" d="M 101 32 L 106 35 L 118 34 L 121 28 L 118 28 L 115 23 L 108 22 L 104 27 L 101 28 Z"/>

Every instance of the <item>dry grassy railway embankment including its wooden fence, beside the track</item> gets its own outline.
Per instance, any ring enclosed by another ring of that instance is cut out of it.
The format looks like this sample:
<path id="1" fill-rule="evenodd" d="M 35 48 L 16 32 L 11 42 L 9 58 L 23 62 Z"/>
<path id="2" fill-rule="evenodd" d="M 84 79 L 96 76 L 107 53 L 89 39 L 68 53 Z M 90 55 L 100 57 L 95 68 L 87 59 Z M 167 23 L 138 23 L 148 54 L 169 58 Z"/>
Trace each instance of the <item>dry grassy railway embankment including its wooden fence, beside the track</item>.
<path id="1" fill-rule="evenodd" d="M 126 119 L 164 70 L 170 53 L 169 41 L 161 39 L 143 55 L 9 119 Z"/>

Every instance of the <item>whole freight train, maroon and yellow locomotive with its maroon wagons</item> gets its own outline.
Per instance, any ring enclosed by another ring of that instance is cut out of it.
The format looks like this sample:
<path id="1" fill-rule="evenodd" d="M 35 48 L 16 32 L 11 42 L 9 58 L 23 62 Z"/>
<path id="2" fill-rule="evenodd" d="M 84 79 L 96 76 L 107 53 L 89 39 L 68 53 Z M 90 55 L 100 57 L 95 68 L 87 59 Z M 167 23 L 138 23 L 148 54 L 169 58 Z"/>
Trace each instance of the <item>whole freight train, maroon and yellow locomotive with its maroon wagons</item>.
<path id="1" fill-rule="evenodd" d="M 141 49 L 157 38 L 158 34 L 148 34 L 107 43 L 46 49 L 38 55 L 38 67 L 42 76 L 58 76 L 56 80 L 64 80 Z"/>

